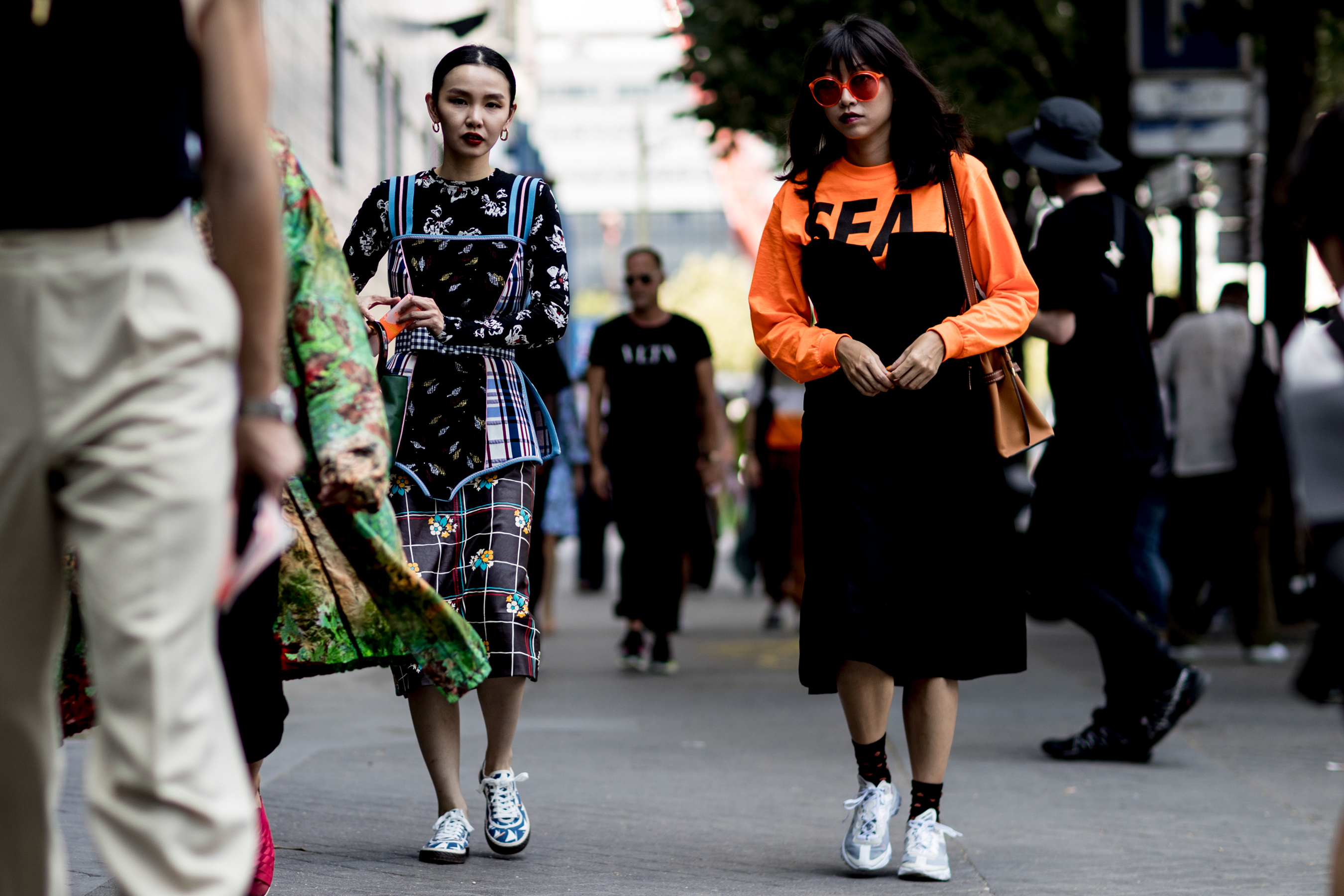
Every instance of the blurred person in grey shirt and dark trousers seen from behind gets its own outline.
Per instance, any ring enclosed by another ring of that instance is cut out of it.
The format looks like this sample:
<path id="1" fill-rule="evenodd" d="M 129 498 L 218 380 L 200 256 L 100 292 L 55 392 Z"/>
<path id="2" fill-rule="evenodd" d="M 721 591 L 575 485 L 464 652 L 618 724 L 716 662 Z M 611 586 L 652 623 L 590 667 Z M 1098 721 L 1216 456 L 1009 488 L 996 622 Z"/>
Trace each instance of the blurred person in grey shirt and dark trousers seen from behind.
<path id="1" fill-rule="evenodd" d="M 1277 420 L 1269 424 L 1273 431 L 1259 422 L 1254 433 L 1246 431 L 1245 415 L 1257 412 L 1254 403 L 1273 410 L 1279 367 L 1274 325 L 1251 324 L 1249 296 L 1245 283 L 1228 283 L 1215 312 L 1179 317 L 1154 356 L 1157 377 L 1172 391 L 1175 408 L 1164 545 L 1172 571 L 1168 638 L 1172 654 L 1185 660 L 1199 657 L 1199 638 L 1224 606 L 1232 609 L 1249 662 L 1288 660 L 1288 647 L 1278 641 L 1274 579 L 1267 572 L 1274 513 L 1269 480 L 1282 467 L 1282 453 L 1274 451 L 1278 469 L 1257 469 L 1245 447 L 1246 457 L 1238 457 L 1234 439 L 1241 415 L 1243 439 L 1282 443 Z M 1255 380 L 1265 372 L 1269 388 L 1258 391 Z"/>

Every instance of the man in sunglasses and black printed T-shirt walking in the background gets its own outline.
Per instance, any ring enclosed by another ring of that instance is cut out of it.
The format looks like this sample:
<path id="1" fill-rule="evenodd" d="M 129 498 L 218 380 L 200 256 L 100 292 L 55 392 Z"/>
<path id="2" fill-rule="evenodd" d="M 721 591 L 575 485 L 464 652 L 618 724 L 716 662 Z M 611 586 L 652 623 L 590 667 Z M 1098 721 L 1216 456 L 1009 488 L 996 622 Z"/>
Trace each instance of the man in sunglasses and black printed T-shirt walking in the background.
<path id="1" fill-rule="evenodd" d="M 669 635 L 680 627 L 692 553 L 714 539 L 704 492 L 723 465 L 710 340 L 695 321 L 659 306 L 664 279 L 656 250 L 626 253 L 630 313 L 593 333 L 586 429 L 590 485 L 612 502 L 625 545 L 616 604 L 628 621 L 621 660 L 628 669 L 671 674 L 677 664 Z M 645 631 L 653 635 L 648 660 Z"/>

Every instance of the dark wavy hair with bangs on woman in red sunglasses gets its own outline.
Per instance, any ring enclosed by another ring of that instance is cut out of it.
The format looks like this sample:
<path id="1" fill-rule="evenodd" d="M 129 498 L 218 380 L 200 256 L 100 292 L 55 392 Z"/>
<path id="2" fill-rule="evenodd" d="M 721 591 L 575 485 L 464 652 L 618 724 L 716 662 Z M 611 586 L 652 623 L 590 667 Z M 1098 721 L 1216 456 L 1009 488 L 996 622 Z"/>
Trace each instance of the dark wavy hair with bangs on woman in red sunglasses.
<path id="1" fill-rule="evenodd" d="M 809 203 L 821 172 L 844 154 L 845 140 L 827 121 L 825 109 L 812 98 L 808 85 L 827 69 L 835 71 L 840 62 L 849 71 L 867 69 L 891 79 L 891 161 L 899 189 L 941 181 L 948 154 L 970 149 L 965 120 L 948 107 L 942 91 L 923 77 L 896 35 L 880 21 L 845 16 L 808 50 L 802 86 L 789 116 L 789 159 L 780 180 L 798 184 L 798 195 Z"/>

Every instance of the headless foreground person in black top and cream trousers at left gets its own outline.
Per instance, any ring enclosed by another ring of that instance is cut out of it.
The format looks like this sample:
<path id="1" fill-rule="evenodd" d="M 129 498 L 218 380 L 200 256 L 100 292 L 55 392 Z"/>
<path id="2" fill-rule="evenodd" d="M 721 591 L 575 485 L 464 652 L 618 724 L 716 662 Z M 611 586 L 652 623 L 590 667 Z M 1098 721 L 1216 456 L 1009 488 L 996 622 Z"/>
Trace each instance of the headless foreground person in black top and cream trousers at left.
<path id="1" fill-rule="evenodd" d="M 261 9 L 31 0 L 0 15 L 0 114 L 24 134 L 0 150 L 0 896 L 67 892 L 66 543 L 98 689 L 93 837 L 122 892 L 238 896 L 257 809 L 214 595 L 235 476 L 278 492 L 302 462 L 277 391 Z M 202 185 L 219 269 L 183 204 Z"/>

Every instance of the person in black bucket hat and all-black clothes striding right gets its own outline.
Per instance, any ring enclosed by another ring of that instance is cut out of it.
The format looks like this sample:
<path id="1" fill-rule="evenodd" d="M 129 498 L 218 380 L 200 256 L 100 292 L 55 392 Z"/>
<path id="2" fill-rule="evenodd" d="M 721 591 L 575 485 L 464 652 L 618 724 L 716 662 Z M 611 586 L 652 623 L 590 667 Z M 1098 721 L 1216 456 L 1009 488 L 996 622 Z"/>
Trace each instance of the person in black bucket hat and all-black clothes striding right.
<path id="1" fill-rule="evenodd" d="M 1130 559 L 1140 502 L 1165 451 L 1149 348 L 1153 242 L 1142 218 L 1097 176 L 1121 167 L 1098 145 L 1101 129 L 1091 106 L 1052 97 L 1032 126 L 1008 134 L 1046 192 L 1064 200 L 1027 254 L 1040 289 L 1027 333 L 1051 343 L 1055 399 L 1055 438 L 1036 465 L 1031 500 L 1030 610 L 1086 629 L 1106 678 L 1106 705 L 1093 724 L 1042 750 L 1055 759 L 1148 762 L 1208 677 L 1167 654 L 1148 625 L 1160 625 L 1161 607 Z"/>

